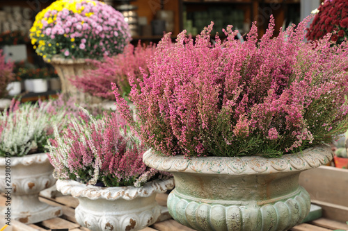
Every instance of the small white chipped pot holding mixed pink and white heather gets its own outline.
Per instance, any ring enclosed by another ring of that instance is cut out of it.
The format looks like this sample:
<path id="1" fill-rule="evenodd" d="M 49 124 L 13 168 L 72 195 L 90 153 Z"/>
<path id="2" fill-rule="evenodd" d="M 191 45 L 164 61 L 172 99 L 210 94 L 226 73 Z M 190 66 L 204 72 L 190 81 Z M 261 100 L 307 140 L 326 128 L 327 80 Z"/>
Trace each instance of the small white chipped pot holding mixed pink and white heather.
<path id="1" fill-rule="evenodd" d="M 155 180 L 143 187 L 96 187 L 73 180 L 58 180 L 57 189 L 79 199 L 77 222 L 93 231 L 141 230 L 155 223 L 161 209 L 157 193 L 173 189 L 174 180 Z"/>

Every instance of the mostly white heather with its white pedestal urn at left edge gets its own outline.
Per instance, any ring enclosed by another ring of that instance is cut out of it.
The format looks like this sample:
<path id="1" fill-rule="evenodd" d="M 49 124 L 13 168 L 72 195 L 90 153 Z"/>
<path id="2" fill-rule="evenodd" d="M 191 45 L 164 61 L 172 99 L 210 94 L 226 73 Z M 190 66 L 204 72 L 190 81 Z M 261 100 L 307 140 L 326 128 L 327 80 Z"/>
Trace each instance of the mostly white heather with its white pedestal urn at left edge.
<path id="1" fill-rule="evenodd" d="M 52 102 L 18 104 L 0 113 L 0 170 L 8 172 L 10 163 L 10 178 L 1 174 L 0 191 L 10 190 L 13 219 L 37 223 L 62 214 L 61 207 L 40 202 L 38 195 L 56 182 L 44 146 L 52 123 L 63 126 L 65 111 L 52 110 Z"/>

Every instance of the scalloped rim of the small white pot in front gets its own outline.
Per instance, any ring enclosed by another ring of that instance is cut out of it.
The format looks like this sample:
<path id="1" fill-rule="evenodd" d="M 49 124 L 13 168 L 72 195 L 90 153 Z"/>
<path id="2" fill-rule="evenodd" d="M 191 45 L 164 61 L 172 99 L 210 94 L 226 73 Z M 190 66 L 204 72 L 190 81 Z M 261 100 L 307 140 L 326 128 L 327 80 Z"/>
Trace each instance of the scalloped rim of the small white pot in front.
<path id="1" fill-rule="evenodd" d="M 74 180 L 58 180 L 56 182 L 58 191 L 63 195 L 71 194 L 73 197 L 86 197 L 90 200 L 133 200 L 137 197 L 148 197 L 154 193 L 164 193 L 168 189 L 174 188 L 174 179 L 153 180 L 146 182 L 143 187 L 97 187 L 93 185 L 85 185 Z"/>

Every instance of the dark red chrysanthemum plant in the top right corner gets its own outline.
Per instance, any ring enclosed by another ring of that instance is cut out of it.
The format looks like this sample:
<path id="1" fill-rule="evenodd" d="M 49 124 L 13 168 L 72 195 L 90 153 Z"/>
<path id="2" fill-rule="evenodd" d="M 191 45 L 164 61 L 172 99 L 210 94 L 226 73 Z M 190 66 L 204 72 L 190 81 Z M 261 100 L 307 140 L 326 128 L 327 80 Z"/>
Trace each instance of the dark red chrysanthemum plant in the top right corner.
<path id="1" fill-rule="evenodd" d="M 341 44 L 348 38 L 348 2 L 345 0 L 326 0 L 316 10 L 306 37 L 319 40 L 332 33 L 331 40 Z"/>

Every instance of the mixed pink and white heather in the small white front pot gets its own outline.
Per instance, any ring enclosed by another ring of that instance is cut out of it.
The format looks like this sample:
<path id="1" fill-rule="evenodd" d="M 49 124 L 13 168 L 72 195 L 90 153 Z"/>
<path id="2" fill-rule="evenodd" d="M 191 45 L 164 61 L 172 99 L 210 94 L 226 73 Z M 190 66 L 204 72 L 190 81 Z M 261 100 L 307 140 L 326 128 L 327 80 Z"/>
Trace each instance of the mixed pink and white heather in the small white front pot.
<path id="1" fill-rule="evenodd" d="M 54 139 L 49 139 L 47 148 L 56 178 L 99 186 L 102 182 L 106 187 L 140 187 L 152 178 L 168 176 L 143 164 L 147 148 L 116 112 L 96 118 L 83 111 L 63 132 L 55 128 Z"/>

